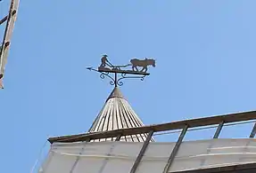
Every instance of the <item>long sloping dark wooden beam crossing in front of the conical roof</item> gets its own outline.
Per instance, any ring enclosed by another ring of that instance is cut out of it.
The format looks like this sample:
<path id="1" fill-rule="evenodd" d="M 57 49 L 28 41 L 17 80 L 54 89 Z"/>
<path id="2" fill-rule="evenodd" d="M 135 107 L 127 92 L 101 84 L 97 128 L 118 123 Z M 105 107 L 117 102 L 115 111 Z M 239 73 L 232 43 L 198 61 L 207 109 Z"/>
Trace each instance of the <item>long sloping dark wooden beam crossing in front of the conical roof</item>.
<path id="1" fill-rule="evenodd" d="M 114 138 L 119 135 L 128 136 L 136 135 L 142 133 L 149 133 L 150 131 L 166 131 L 166 130 L 180 130 L 183 129 L 186 125 L 189 128 L 196 128 L 208 125 L 219 124 L 220 122 L 230 123 L 230 122 L 244 122 L 256 119 L 256 111 L 236 113 L 236 114 L 224 114 L 219 116 L 211 116 L 205 118 L 197 118 L 179 122 L 169 122 L 163 124 L 149 125 L 144 127 L 137 128 L 128 128 L 120 130 L 111 130 L 103 132 L 93 132 L 93 133 L 84 133 L 78 135 L 62 136 L 48 138 L 48 141 L 53 144 L 54 142 L 79 142 L 86 141 L 87 138 L 90 139 L 99 139 L 99 138 Z"/>

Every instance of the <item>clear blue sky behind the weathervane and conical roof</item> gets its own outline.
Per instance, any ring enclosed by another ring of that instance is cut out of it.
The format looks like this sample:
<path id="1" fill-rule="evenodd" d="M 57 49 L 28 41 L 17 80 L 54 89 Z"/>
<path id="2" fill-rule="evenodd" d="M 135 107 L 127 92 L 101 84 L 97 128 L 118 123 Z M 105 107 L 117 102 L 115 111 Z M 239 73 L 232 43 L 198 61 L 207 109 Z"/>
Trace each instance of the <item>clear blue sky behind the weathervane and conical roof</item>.
<path id="1" fill-rule="evenodd" d="M 86 70 L 103 53 L 114 64 L 157 59 L 144 82 L 121 87 L 145 124 L 255 109 L 255 6 L 255 0 L 21 1 L 0 90 L 1 172 L 27 173 L 49 136 L 88 130 L 112 90 Z M 249 133 L 244 127 L 226 135 Z"/>

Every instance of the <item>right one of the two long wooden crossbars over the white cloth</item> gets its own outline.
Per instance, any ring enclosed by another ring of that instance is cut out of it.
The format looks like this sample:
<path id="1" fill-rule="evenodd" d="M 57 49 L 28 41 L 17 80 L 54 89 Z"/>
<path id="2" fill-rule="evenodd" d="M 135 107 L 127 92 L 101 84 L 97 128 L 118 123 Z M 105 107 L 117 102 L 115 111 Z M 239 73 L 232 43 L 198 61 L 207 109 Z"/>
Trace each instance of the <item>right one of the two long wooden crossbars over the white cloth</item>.
<path id="1" fill-rule="evenodd" d="M 181 133 L 180 133 L 180 135 L 178 137 L 178 141 L 177 141 L 176 145 L 174 146 L 172 152 L 170 153 L 169 160 L 167 161 L 167 164 L 165 165 L 165 168 L 163 169 L 162 173 L 168 173 L 170 165 L 171 165 L 172 161 L 174 160 L 176 154 L 178 153 L 179 146 L 181 145 L 182 140 L 183 140 L 183 138 L 186 135 L 187 129 L 188 129 L 188 126 L 186 125 L 183 128 L 183 130 L 181 131 Z"/>

